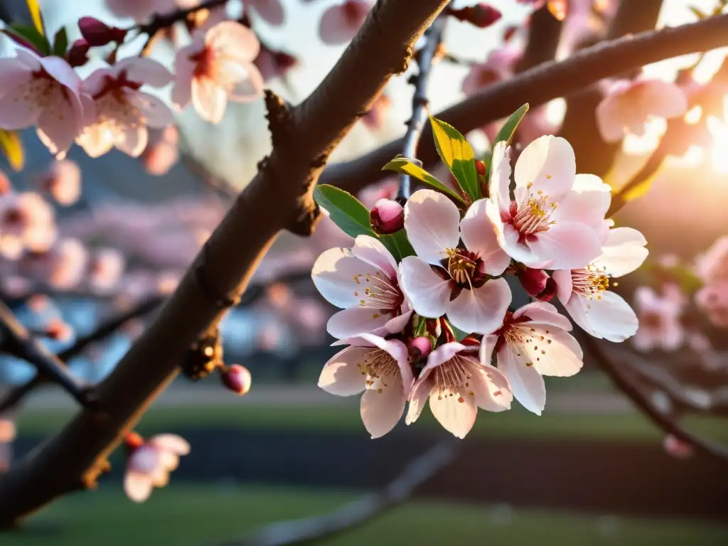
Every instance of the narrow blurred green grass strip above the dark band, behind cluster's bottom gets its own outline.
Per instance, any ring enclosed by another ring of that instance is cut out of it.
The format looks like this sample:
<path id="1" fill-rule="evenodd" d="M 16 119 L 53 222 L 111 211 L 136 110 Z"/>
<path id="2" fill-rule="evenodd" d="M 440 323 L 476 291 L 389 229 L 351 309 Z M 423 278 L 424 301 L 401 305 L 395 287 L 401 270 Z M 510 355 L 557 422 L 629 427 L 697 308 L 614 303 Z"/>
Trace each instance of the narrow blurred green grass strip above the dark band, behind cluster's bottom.
<path id="1" fill-rule="evenodd" d="M 58 430 L 70 418 L 68 411 L 25 411 L 18 419 L 20 434 L 47 434 Z M 197 427 L 240 427 L 265 430 L 316 430 L 365 434 L 356 400 L 351 405 L 224 405 L 152 407 L 137 429 L 143 434 Z M 429 410 L 411 425 L 413 430 L 439 427 Z M 716 440 L 728 441 L 724 422 L 695 419 L 694 430 Z M 471 433 L 497 438 L 559 438 L 646 440 L 662 438 L 660 431 L 639 414 L 586 414 L 549 412 L 536 416 L 516 407 L 502 414 L 480 411 Z"/>

